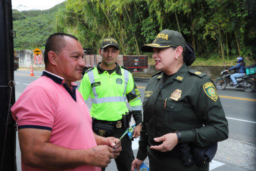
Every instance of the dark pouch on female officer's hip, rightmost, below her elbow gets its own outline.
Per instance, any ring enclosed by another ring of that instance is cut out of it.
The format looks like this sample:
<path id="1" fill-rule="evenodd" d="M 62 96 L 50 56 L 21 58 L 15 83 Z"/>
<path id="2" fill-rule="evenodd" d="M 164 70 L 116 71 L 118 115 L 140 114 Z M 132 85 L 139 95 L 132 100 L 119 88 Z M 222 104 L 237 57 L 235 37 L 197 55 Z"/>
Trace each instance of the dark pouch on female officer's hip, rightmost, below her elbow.
<path id="1" fill-rule="evenodd" d="M 205 164 L 211 162 L 212 159 L 214 159 L 214 155 L 217 152 L 217 148 L 217 142 L 205 147 L 195 147 L 192 150 L 194 163 L 196 163 L 197 166 L 205 166 Z"/>

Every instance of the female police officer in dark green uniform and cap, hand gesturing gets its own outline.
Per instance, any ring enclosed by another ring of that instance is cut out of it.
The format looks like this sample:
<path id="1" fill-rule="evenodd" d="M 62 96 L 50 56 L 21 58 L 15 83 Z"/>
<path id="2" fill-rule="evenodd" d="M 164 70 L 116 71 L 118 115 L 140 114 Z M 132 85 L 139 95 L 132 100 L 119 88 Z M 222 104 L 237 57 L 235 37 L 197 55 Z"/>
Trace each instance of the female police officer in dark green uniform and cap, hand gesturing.
<path id="1" fill-rule="evenodd" d="M 165 29 L 141 49 L 153 51 L 155 68 L 161 72 L 146 86 L 144 123 L 131 170 L 139 170 L 146 156 L 151 171 L 209 170 L 207 162 L 196 165 L 192 149 L 228 137 L 227 119 L 213 81 L 188 68 L 195 60 L 194 50 L 177 31 Z"/>

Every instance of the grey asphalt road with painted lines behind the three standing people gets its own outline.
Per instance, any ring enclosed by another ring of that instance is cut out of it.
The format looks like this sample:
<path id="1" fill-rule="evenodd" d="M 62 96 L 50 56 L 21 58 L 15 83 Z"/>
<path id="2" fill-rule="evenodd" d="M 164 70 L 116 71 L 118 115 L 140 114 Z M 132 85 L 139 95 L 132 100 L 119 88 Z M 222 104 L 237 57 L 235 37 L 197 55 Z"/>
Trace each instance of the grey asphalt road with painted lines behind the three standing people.
<path id="1" fill-rule="evenodd" d="M 35 76 L 30 77 L 29 70 L 14 72 L 16 99 L 29 83 L 40 77 L 41 73 L 42 71 L 34 71 Z M 148 82 L 148 77 L 136 77 L 136 84 L 142 94 L 142 99 Z M 77 81 L 77 85 L 80 85 L 80 81 Z M 210 164 L 210 170 L 256 170 L 256 92 L 243 92 L 239 88 L 228 87 L 225 90 L 218 90 L 218 94 L 229 121 L 229 139 L 218 143 L 218 151 Z M 88 101 L 88 107 L 90 106 L 91 103 Z M 137 150 L 138 139 L 133 141 L 135 156 Z M 16 155 L 19 171 L 21 170 L 21 153 L 18 138 Z M 144 163 L 149 166 L 147 159 Z M 114 160 L 106 170 L 117 170 Z"/>

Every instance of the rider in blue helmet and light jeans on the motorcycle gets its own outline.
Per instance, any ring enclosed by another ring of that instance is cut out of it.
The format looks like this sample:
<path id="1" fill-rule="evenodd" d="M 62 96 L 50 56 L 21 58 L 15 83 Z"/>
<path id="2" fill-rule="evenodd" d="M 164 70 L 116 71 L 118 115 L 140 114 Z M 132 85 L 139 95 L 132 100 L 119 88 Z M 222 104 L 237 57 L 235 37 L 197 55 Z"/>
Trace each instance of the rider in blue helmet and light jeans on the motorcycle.
<path id="1" fill-rule="evenodd" d="M 237 70 L 238 73 L 235 73 L 233 75 L 231 75 L 231 79 L 233 81 L 233 87 L 234 88 L 237 88 L 239 85 L 238 85 L 238 81 L 236 81 L 235 78 L 238 78 L 238 77 L 242 77 L 243 75 L 245 75 L 245 70 L 244 70 L 244 66 L 245 66 L 245 63 L 244 63 L 244 57 L 237 57 L 237 62 L 238 64 L 236 66 L 232 66 L 231 68 L 229 68 L 228 70 L 226 71 L 230 71 L 230 70 Z"/>

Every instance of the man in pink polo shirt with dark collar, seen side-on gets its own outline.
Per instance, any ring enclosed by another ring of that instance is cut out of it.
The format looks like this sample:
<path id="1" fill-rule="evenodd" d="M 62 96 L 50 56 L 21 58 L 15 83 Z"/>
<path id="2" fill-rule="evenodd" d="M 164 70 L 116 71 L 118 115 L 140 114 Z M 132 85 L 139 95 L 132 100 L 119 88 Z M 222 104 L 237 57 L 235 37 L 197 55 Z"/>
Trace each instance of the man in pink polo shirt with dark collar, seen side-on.
<path id="1" fill-rule="evenodd" d="M 57 33 L 45 45 L 45 70 L 12 107 L 22 170 L 101 170 L 122 149 L 115 137 L 92 131 L 92 118 L 74 81 L 84 50 L 75 36 Z"/>

